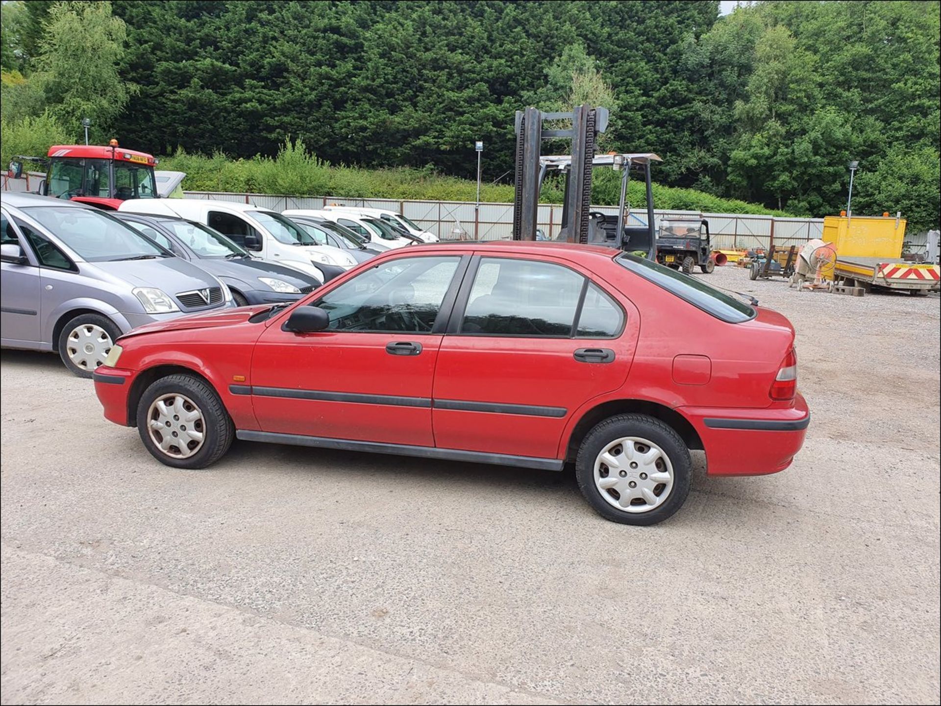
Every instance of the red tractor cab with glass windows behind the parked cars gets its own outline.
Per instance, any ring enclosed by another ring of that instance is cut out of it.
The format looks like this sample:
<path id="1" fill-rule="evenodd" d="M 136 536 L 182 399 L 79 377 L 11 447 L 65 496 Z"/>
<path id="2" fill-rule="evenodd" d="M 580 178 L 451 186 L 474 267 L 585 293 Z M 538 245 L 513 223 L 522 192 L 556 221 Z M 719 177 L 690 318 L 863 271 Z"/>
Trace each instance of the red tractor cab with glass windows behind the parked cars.
<path id="1" fill-rule="evenodd" d="M 153 166 L 146 152 L 122 149 L 117 140 L 108 147 L 55 145 L 40 193 L 117 211 L 129 198 L 158 198 Z"/>

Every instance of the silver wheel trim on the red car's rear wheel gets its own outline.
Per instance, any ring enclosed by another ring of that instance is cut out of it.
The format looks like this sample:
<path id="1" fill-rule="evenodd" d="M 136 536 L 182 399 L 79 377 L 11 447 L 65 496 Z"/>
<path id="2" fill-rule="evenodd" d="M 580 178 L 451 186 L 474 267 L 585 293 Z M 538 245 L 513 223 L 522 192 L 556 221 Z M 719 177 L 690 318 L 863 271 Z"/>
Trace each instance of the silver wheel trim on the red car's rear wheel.
<path id="1" fill-rule="evenodd" d="M 659 508 L 673 491 L 673 464 L 661 447 L 639 436 L 624 436 L 595 459 L 595 485 L 622 512 Z"/>

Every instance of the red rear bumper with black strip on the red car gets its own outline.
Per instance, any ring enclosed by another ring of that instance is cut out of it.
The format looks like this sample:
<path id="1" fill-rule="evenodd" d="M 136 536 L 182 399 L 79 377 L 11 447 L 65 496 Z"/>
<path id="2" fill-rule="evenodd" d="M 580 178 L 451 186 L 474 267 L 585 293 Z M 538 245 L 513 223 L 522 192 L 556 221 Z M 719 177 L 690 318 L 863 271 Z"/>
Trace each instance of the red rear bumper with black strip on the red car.
<path id="1" fill-rule="evenodd" d="M 810 412 L 800 393 L 793 405 L 769 409 L 680 407 L 702 439 L 710 476 L 765 476 L 787 468 L 804 446 Z"/>

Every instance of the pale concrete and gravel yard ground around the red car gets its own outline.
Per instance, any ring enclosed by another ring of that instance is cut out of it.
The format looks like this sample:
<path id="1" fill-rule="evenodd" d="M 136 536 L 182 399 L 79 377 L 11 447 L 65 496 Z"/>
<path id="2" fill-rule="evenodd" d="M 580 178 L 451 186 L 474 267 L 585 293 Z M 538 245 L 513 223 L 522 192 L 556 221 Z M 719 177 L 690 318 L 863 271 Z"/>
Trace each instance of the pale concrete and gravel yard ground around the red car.
<path id="1" fill-rule="evenodd" d="M 242 442 L 174 470 L 4 352 L 3 703 L 938 703 L 938 297 L 707 281 L 794 322 L 813 419 L 775 476 L 700 454 L 653 527 L 570 472 Z"/>

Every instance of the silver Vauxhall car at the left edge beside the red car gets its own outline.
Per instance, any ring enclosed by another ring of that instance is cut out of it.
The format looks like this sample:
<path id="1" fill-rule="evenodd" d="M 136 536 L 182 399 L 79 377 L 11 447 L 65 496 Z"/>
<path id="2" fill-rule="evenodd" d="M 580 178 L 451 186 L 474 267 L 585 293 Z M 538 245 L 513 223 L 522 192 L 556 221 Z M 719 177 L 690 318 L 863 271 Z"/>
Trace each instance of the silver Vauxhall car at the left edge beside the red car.
<path id="1" fill-rule="evenodd" d="M 0 346 L 58 353 L 90 378 L 132 328 L 234 306 L 226 285 L 103 211 L 0 202 Z"/>

